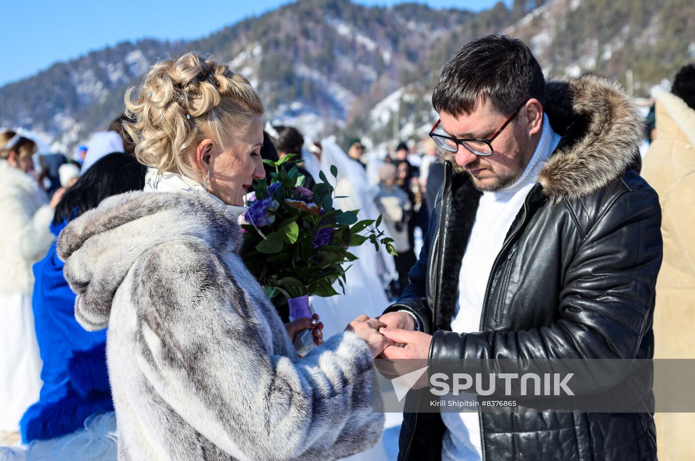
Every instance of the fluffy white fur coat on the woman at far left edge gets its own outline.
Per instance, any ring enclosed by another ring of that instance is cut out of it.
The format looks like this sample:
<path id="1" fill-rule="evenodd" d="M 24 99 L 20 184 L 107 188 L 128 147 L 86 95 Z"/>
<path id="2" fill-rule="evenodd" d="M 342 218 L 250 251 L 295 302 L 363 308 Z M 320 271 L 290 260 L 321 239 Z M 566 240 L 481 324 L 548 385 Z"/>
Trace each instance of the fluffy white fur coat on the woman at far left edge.
<path id="1" fill-rule="evenodd" d="M 31 266 L 54 240 L 49 229 L 53 216 L 38 183 L 0 160 L 0 295 L 31 294 Z"/>

